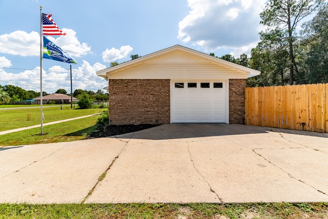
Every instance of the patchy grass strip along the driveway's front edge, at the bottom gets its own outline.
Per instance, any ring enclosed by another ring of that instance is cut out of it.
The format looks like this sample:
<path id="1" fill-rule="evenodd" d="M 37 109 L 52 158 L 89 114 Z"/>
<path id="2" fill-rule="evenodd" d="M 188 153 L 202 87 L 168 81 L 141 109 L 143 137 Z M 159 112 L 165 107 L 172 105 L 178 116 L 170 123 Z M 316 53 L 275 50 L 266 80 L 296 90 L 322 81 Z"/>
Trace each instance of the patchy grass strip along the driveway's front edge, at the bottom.
<path id="1" fill-rule="evenodd" d="M 0 218 L 327 218 L 327 203 L 0 204 Z"/>

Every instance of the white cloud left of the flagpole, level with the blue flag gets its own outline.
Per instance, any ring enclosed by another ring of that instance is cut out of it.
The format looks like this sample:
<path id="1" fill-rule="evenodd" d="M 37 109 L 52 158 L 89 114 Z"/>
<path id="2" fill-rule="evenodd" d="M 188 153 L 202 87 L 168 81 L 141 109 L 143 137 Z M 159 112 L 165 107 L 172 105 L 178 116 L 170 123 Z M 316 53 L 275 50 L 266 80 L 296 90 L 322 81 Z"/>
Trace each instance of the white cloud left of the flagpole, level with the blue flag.
<path id="1" fill-rule="evenodd" d="M 32 31 L 17 30 L 0 35 L 0 52 L 20 56 L 36 56 L 40 54 L 40 35 Z"/>

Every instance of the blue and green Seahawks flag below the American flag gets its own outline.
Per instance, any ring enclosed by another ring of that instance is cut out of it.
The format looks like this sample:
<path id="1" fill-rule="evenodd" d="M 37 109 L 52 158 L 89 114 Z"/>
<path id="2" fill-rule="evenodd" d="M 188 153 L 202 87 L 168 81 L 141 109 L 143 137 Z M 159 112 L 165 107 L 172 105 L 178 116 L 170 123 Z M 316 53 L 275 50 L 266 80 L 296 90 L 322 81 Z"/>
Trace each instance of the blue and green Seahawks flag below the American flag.
<path id="1" fill-rule="evenodd" d="M 74 58 L 49 41 L 45 36 L 43 36 L 43 57 L 63 63 L 77 64 Z"/>

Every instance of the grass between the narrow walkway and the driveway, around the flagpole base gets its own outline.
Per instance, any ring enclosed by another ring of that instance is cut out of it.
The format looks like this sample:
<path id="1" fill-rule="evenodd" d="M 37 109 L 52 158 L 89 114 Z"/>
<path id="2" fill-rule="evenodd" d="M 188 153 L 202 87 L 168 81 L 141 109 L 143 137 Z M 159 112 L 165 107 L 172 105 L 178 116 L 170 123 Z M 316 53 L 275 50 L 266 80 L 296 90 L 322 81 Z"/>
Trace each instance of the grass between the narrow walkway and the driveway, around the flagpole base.
<path id="1" fill-rule="evenodd" d="M 83 140 L 88 134 L 96 131 L 98 116 L 80 118 L 69 122 L 44 126 L 44 135 L 40 128 L 33 128 L 0 135 L 0 146 L 32 145 L 55 142 Z"/>

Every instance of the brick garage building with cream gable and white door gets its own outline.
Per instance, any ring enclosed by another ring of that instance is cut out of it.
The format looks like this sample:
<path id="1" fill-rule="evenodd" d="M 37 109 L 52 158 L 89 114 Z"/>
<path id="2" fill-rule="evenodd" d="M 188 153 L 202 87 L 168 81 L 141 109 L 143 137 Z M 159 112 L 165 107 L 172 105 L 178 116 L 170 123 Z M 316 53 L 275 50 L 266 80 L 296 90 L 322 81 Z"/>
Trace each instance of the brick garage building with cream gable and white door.
<path id="1" fill-rule="evenodd" d="M 259 74 L 180 45 L 97 72 L 114 125 L 243 124 L 246 79 Z"/>

